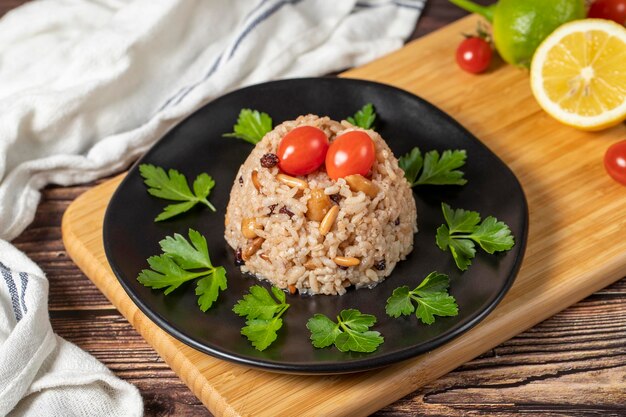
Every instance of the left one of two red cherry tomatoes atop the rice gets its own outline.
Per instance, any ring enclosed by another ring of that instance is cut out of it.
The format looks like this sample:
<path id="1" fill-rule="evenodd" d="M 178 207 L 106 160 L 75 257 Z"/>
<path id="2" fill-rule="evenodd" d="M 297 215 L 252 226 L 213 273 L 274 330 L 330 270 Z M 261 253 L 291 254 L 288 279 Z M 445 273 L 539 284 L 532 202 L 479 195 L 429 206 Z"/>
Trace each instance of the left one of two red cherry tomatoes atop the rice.
<path id="1" fill-rule="evenodd" d="M 328 137 L 313 126 L 300 126 L 287 133 L 278 145 L 278 167 L 291 175 L 306 175 L 324 163 Z"/>

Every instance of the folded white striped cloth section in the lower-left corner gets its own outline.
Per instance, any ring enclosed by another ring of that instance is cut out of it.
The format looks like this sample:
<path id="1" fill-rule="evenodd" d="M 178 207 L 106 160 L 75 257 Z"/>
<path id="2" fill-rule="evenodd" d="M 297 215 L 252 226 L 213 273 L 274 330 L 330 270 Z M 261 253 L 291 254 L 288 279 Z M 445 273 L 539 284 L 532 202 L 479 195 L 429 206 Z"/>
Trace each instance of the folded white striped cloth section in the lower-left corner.
<path id="1" fill-rule="evenodd" d="M 0 240 L 0 416 L 141 416 L 135 387 L 56 336 L 48 281 Z"/>

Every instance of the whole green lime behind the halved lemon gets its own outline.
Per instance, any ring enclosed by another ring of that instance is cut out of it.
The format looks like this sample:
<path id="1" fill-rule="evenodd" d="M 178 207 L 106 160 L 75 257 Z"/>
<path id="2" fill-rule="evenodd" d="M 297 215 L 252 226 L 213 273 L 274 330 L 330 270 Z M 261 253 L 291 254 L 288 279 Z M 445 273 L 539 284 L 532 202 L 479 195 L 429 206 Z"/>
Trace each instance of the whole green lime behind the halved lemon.
<path id="1" fill-rule="evenodd" d="M 481 6 L 469 0 L 450 0 L 493 24 L 498 53 L 509 64 L 530 66 L 539 44 L 563 23 L 584 19 L 584 0 L 500 0 Z"/>

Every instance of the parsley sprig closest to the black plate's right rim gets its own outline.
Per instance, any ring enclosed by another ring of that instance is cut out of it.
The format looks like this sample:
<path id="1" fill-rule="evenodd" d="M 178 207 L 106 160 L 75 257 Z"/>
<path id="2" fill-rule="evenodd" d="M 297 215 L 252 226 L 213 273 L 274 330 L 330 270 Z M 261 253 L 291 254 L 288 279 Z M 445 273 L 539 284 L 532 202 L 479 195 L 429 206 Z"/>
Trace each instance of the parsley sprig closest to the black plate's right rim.
<path id="1" fill-rule="evenodd" d="M 489 254 L 509 250 L 515 245 L 509 227 L 495 217 L 489 216 L 480 223 L 480 214 L 475 211 L 453 210 L 445 203 L 441 208 L 447 225 L 437 229 L 437 246 L 443 251 L 450 249 L 461 271 L 472 264 L 476 256 L 475 243 Z"/>

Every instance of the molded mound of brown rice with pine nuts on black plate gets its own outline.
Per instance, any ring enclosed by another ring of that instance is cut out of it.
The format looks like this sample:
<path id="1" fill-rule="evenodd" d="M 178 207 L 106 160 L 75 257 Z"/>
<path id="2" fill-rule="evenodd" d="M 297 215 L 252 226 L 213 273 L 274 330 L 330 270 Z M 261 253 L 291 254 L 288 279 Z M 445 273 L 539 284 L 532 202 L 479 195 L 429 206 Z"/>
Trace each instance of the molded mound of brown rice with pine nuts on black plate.
<path id="1" fill-rule="evenodd" d="M 226 241 L 241 263 L 242 250 L 245 254 L 248 248 L 242 272 L 291 292 L 297 289 L 302 294 L 335 295 L 344 294 L 351 285 L 373 287 L 413 249 L 417 214 L 409 183 L 385 141 L 373 130 L 363 131 L 376 149 L 370 178 L 379 188 L 374 198 L 354 192 L 343 178 L 333 181 L 323 166 L 298 177 L 308 183 L 304 190 L 280 182 L 276 178 L 278 166 L 264 168 L 261 158 L 276 153 L 283 136 L 303 125 L 322 129 L 331 143 L 342 133 L 363 130 L 346 121 L 306 115 L 266 134 L 235 178 L 226 211 Z M 323 189 L 339 206 L 325 236 L 320 233 L 320 222 L 307 218 L 307 201 L 314 189 Z M 257 238 L 243 235 L 242 222 L 249 221 L 246 219 L 254 220 Z M 256 247 L 250 250 L 251 245 Z M 337 257 L 356 258 L 360 263 L 341 266 Z"/>

